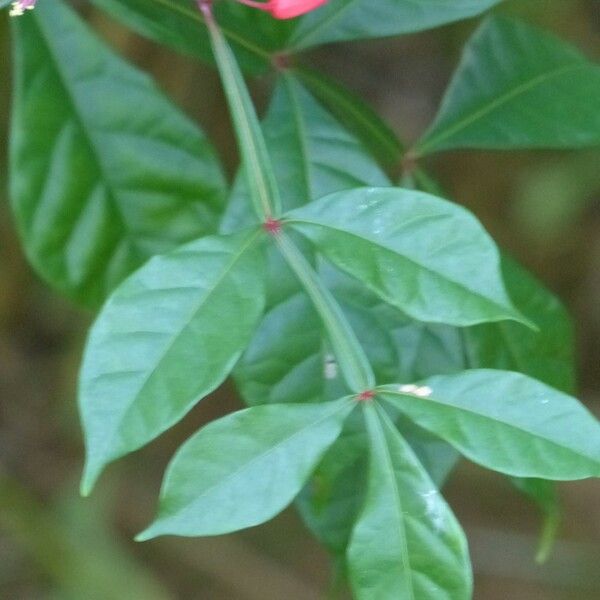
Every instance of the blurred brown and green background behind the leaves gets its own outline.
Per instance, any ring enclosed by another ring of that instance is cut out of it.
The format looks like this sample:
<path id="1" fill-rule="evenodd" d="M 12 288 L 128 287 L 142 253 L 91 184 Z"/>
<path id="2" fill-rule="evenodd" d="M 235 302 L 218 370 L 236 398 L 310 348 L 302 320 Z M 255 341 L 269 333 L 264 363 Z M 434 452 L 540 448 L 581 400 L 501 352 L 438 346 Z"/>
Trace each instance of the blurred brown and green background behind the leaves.
<path id="1" fill-rule="evenodd" d="M 44 0 L 42 0 L 44 1 Z M 48 1 L 48 0 L 45 0 Z M 51 1 L 51 0 L 50 0 Z M 237 162 L 212 69 L 124 30 L 85 2 L 98 31 L 215 141 L 229 174 Z M 598 0 L 507 0 L 521 16 L 600 59 Z M 372 103 L 411 141 L 434 114 L 474 27 L 460 23 L 394 40 L 342 44 L 308 58 Z M 0 598 L 7 600 L 311 600 L 329 561 L 293 511 L 268 525 L 211 539 L 135 544 L 150 519 L 164 467 L 183 439 L 238 406 L 225 387 L 158 442 L 111 467 L 99 492 L 77 494 L 83 448 L 76 374 L 91 315 L 32 273 L 6 197 L 10 35 L 0 17 Z M 264 109 L 272 78 L 254 82 Z M 598 107 L 600 110 L 600 107 Z M 600 413 L 600 152 L 452 152 L 431 161 L 446 189 L 572 311 L 580 393 Z M 477 600 L 600 597 L 600 484 L 560 485 L 564 521 L 543 566 L 539 519 L 504 478 L 463 463 L 445 490 L 471 545 Z M 433 599 L 432 599 L 433 600 Z"/>

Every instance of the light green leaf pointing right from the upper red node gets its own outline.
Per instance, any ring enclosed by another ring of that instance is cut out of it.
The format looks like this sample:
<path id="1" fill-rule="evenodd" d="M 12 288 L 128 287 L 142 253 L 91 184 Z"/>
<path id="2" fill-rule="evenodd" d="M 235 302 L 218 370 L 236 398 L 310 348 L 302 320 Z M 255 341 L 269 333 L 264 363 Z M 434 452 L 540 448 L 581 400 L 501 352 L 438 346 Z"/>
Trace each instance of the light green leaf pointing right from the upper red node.
<path id="1" fill-rule="evenodd" d="M 296 209 L 286 222 L 415 319 L 527 323 L 506 294 L 493 241 L 450 202 L 422 192 L 359 188 Z"/>

